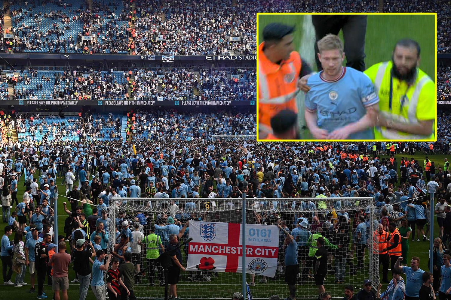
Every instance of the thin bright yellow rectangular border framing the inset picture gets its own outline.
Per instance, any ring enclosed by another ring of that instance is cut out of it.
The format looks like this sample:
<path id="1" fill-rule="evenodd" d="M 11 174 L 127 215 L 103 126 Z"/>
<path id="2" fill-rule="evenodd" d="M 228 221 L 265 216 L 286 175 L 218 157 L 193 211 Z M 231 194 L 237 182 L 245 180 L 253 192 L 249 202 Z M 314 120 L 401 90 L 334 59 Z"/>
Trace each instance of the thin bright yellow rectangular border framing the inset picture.
<path id="1" fill-rule="evenodd" d="M 257 13 L 257 141 L 258 142 L 387 142 L 388 140 L 377 140 L 377 139 L 361 139 L 361 140 L 352 140 L 352 139 L 328 139 L 328 140 L 319 140 L 319 139 L 258 139 L 258 17 L 260 15 L 433 15 L 434 16 L 434 70 L 435 70 L 435 90 L 437 97 L 437 13 Z M 406 139 L 402 140 L 402 142 L 436 142 L 437 141 L 437 99 L 435 105 L 435 126 L 434 126 L 434 140 L 430 139 Z"/>

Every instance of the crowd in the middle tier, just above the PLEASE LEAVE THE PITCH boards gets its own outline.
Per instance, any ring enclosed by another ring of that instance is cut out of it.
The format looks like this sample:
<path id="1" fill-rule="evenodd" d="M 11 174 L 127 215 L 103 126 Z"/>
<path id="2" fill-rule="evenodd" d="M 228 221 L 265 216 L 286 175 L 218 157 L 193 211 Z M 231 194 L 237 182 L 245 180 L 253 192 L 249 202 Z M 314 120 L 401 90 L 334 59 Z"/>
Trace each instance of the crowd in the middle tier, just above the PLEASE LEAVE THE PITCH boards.
<path id="1" fill-rule="evenodd" d="M 14 99 L 63 100 L 257 100 L 256 72 L 249 68 L 197 69 L 151 68 L 134 72 L 80 70 L 18 72 L 3 78 L 0 94 L 8 99 L 13 85 Z M 130 78 L 133 73 L 134 79 Z M 33 83 L 33 84 L 31 84 Z M 50 85 L 49 85 L 50 83 Z M 36 84 L 36 85 L 34 85 Z M 43 85 L 44 84 L 44 85 Z M 129 94 L 129 88 L 131 93 Z"/>

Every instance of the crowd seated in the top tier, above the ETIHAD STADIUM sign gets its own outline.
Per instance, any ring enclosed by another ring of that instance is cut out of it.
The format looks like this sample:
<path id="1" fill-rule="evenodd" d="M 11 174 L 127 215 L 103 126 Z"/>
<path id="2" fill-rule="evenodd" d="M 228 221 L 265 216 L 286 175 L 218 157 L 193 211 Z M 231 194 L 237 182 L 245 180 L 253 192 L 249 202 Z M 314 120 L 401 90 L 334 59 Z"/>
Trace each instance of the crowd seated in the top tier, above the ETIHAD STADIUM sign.
<path id="1" fill-rule="evenodd" d="M 5 32 L 8 30 L 14 39 L 2 37 L 1 45 L 5 51 L 138 55 L 219 55 L 233 51 L 253 54 L 258 12 L 376 12 L 379 5 L 376 0 L 359 3 L 353 0 L 241 0 L 234 6 L 230 0 L 226 3 L 179 0 L 164 4 L 137 1 L 135 13 L 130 13 L 128 1 L 110 1 L 108 4 L 95 1 L 92 11 L 87 9 L 87 2 L 82 1 L 48 0 L 40 4 L 57 9 L 43 12 L 42 6 L 37 6 L 34 1 L 26 7 L 11 6 L 8 13 L 13 26 L 5 28 Z M 448 1 L 389 0 L 384 1 L 383 7 L 384 12 L 437 12 L 438 51 L 449 52 L 450 35 L 446 29 L 451 25 L 451 17 Z M 84 34 L 90 34 L 92 40 L 82 41 Z M 230 36 L 237 36 L 239 40 L 232 41 Z"/>

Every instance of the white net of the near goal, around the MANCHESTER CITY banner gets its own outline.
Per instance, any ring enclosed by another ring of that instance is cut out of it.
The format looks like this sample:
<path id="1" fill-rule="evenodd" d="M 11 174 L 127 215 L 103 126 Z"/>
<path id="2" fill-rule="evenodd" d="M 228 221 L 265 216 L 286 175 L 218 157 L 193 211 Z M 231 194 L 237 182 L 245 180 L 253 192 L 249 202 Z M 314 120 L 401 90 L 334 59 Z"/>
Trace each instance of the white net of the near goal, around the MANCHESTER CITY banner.
<path id="1" fill-rule="evenodd" d="M 381 208 L 373 206 L 373 198 L 273 199 L 274 201 L 268 198 L 246 199 L 246 231 L 243 234 L 246 240 L 249 240 L 249 237 L 269 239 L 271 233 L 268 237 L 266 230 L 263 233 L 263 230 L 258 232 L 255 228 L 259 224 L 281 224 L 296 238 L 299 245 L 300 270 L 296 298 L 318 298 L 318 288 L 313 279 L 313 254 L 316 251 L 316 239 L 321 235 L 330 242 L 327 246 L 328 272 L 324 282 L 326 291 L 331 295 L 341 295 L 346 284 L 362 287 L 362 282 L 366 278 L 369 278 L 374 286 L 379 284 L 377 244 L 373 241 L 373 233 L 377 229 L 378 214 L 380 214 L 378 210 Z M 226 246 L 241 246 L 239 229 L 237 233 L 220 226 L 220 222 L 232 225 L 242 223 L 244 210 L 241 198 L 119 198 L 118 200 L 120 200 L 117 212 L 119 219 L 115 224 L 119 224 L 122 218 L 133 222 L 136 216 L 139 215 L 140 218 L 144 216 L 147 222 L 147 224 L 141 222 L 144 225 L 142 228 L 144 236 L 149 234 L 147 225 L 157 224 L 155 233 L 161 237 L 165 249 L 169 243 L 169 235 L 179 231 L 179 228 L 174 227 L 172 223 L 181 227 L 187 220 L 213 224 L 218 228 L 214 233 L 217 237 L 228 236 Z M 324 207 L 323 205 L 327 208 L 318 208 Z M 303 218 L 308 221 L 308 226 L 302 230 L 308 233 L 299 234 L 301 230 L 299 223 L 304 220 Z M 271 227 L 278 230 L 274 226 Z M 194 234 L 196 232 L 190 233 L 188 227 L 182 242 Z M 274 277 L 263 277 L 258 275 L 258 272 L 249 272 L 249 270 L 246 272 L 246 281 L 255 299 L 268 299 L 275 294 L 284 298 L 289 296 L 285 283 L 285 247 L 283 245 L 285 236 L 282 232 L 280 235 L 273 233 L 272 236 L 277 235 L 278 240 L 273 241 L 277 249 Z M 219 240 L 220 238 L 217 238 L 215 242 Z M 375 252 L 372 251 L 373 246 Z M 146 258 L 146 250 L 142 252 L 143 260 L 139 262 L 141 270 L 147 268 L 152 262 Z M 183 256 L 181 263 L 186 268 L 189 247 L 183 246 L 181 252 Z M 236 268 L 234 271 L 209 267 L 214 264 L 211 256 L 205 255 L 204 262 L 196 266 L 197 269 L 181 272 L 177 285 L 177 295 L 180 298 L 230 299 L 233 293 L 242 291 L 242 273 L 237 273 Z M 227 260 L 229 259 L 230 257 L 227 257 Z M 249 263 L 250 260 L 247 259 L 246 264 Z M 258 269 L 259 266 L 256 268 Z M 147 269 L 143 276 L 138 277 L 138 283 L 134 287 L 135 296 L 141 299 L 161 299 L 164 295 L 164 287 L 160 285 L 160 281 L 163 280 L 162 274 L 159 265 Z"/>

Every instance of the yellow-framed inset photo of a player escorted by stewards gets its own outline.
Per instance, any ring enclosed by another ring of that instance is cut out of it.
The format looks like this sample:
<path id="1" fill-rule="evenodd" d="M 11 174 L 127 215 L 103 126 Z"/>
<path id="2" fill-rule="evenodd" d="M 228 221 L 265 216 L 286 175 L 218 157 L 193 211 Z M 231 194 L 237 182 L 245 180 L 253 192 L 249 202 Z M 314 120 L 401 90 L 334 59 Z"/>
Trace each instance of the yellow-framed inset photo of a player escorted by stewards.
<path id="1" fill-rule="evenodd" d="M 436 13 L 257 13 L 258 141 L 437 140 Z"/>

